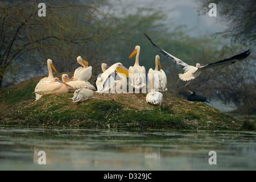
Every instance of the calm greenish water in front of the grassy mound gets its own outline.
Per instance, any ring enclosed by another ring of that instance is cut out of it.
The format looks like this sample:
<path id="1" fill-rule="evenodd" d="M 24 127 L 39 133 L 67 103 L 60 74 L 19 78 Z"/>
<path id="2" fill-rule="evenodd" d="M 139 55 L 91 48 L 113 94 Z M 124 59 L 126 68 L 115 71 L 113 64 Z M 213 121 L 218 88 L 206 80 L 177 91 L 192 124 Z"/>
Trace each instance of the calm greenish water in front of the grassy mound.
<path id="1" fill-rule="evenodd" d="M 0 170 L 255 170 L 255 141 L 255 132 L 2 126 Z"/>

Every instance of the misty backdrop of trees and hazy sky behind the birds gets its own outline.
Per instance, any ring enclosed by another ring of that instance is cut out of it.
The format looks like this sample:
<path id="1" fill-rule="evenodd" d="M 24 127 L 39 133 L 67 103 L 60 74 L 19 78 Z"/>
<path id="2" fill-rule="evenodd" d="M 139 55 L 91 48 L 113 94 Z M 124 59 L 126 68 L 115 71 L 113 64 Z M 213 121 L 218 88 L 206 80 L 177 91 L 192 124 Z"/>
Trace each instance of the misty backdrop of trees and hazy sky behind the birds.
<path id="1" fill-rule="evenodd" d="M 208 15 L 211 2 L 217 5 L 216 17 Z M 38 16 L 39 3 L 0 3 L 1 87 L 47 75 L 47 59 L 58 72 L 73 72 L 80 67 L 76 57 L 82 56 L 94 76 L 101 73 L 101 63 L 121 62 L 129 68 L 135 59 L 128 56 L 139 45 L 139 64 L 146 72 L 155 67 L 155 55 L 160 56 L 173 96 L 186 98 L 187 90 L 194 90 L 222 111 L 256 113 L 255 1 L 44 1 L 46 17 Z M 144 32 L 190 65 L 213 63 L 247 49 L 251 55 L 228 67 L 207 69 L 184 88 L 183 81 L 172 84 L 183 70 L 153 47 Z"/>

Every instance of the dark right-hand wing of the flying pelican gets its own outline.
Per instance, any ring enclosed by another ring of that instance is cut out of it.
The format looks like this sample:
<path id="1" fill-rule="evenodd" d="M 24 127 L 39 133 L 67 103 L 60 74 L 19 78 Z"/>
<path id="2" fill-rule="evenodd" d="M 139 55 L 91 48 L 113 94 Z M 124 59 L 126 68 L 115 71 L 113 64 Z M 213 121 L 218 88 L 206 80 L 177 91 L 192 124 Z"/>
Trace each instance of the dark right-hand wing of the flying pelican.
<path id="1" fill-rule="evenodd" d="M 216 67 L 218 65 L 233 64 L 233 63 L 236 63 L 237 61 L 241 61 L 241 60 L 245 59 L 247 56 L 250 55 L 250 53 L 251 53 L 251 51 L 249 49 L 249 50 L 247 50 L 247 51 L 245 51 L 243 53 L 240 53 L 239 55 L 232 56 L 232 57 L 230 57 L 228 59 L 220 60 L 220 61 L 217 61 L 215 63 L 210 63 L 210 64 L 207 64 L 207 65 L 201 66 L 198 69 L 201 71 L 203 69 Z"/>

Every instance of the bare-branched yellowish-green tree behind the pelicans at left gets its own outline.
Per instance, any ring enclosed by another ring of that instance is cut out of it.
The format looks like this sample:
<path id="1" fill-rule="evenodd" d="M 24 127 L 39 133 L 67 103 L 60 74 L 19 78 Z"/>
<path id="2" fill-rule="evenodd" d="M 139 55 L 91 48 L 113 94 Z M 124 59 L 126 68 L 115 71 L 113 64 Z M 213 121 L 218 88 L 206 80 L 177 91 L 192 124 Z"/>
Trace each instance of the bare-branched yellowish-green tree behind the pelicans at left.
<path id="1" fill-rule="evenodd" d="M 98 56 L 94 46 L 113 38 L 99 3 L 49 1 L 46 5 L 46 16 L 40 17 L 36 1 L 0 3 L 0 87 L 21 73 L 41 75 L 47 59 L 59 72 L 71 71 L 79 66 L 77 56 L 93 59 Z"/>

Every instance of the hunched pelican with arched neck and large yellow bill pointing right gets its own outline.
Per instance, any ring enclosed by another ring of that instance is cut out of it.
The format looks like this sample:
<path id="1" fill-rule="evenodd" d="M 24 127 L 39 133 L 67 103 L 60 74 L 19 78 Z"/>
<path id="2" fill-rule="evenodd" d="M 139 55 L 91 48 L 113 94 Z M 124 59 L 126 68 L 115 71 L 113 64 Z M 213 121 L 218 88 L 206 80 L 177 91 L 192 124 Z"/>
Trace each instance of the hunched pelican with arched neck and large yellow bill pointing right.
<path id="1" fill-rule="evenodd" d="M 117 86 L 117 84 L 120 82 L 120 80 L 114 80 L 114 78 L 112 77 L 112 74 L 114 74 L 116 69 L 118 69 L 118 72 L 122 73 L 126 77 L 129 76 L 128 69 L 123 67 L 122 63 L 115 63 L 111 67 L 106 69 L 106 71 L 103 72 L 100 77 L 97 77 L 97 81 L 96 81 L 96 86 L 97 86 L 96 92 L 101 93 L 103 99 L 104 99 L 103 94 L 109 93 L 109 90 L 110 90 L 112 100 L 114 101 L 112 93 L 115 91 L 115 86 Z"/>

